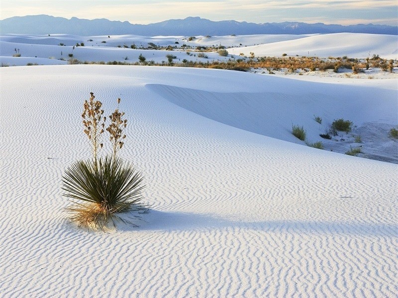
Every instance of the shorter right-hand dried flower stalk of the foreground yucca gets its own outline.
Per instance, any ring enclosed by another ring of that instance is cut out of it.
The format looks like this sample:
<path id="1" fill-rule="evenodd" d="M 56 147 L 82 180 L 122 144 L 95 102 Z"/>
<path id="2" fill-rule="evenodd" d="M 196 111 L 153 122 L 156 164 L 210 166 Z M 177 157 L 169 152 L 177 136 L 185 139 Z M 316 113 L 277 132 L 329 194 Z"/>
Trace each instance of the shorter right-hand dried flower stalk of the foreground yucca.
<path id="1" fill-rule="evenodd" d="M 113 159 L 116 158 L 117 152 L 123 147 L 124 142 L 122 140 L 126 138 L 126 135 L 123 134 L 123 129 L 127 126 L 127 120 L 122 119 L 124 116 L 124 112 L 119 112 L 119 103 L 120 98 L 117 99 L 117 108 L 109 116 L 111 123 L 106 128 L 106 131 L 110 134 L 109 140 L 112 143 Z"/>

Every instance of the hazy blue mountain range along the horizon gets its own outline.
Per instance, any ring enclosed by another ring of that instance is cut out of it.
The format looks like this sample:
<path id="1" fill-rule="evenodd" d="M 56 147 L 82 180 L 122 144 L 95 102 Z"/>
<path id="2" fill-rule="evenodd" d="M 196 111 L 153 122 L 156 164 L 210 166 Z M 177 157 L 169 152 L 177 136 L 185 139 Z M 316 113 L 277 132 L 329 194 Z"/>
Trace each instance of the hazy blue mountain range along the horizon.
<path id="1" fill-rule="evenodd" d="M 200 17 L 171 19 L 148 25 L 131 24 L 127 21 L 108 19 L 79 19 L 54 17 L 49 15 L 14 16 L 0 20 L 0 33 L 54 34 L 65 33 L 82 36 L 89 35 L 248 35 L 248 34 L 311 34 L 311 33 L 374 33 L 398 35 L 398 26 L 358 24 L 325 25 L 301 22 L 247 23 L 237 21 L 210 21 Z"/>

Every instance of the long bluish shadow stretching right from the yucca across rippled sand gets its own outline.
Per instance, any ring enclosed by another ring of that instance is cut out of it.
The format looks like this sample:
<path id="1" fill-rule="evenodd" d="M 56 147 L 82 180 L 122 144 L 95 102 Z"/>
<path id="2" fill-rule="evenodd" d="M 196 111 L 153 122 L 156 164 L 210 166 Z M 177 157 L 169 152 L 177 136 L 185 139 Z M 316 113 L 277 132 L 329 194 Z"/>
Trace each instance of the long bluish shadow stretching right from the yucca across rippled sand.
<path id="1" fill-rule="evenodd" d="M 310 221 L 233 221 L 211 214 L 164 212 L 150 209 L 146 213 L 129 213 L 119 231 L 188 231 L 244 228 L 268 232 L 310 234 L 352 234 L 362 236 L 397 236 L 398 224 L 339 223 Z M 130 223 L 129 223 L 130 222 Z"/>

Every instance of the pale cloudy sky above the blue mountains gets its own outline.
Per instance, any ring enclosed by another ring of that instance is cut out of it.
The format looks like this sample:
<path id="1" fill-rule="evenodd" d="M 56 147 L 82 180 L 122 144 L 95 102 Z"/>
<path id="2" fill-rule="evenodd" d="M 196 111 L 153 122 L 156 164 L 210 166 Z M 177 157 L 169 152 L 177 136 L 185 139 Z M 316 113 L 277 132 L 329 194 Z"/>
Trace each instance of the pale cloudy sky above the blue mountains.
<path id="1" fill-rule="evenodd" d="M 0 19 L 49 14 L 149 24 L 200 16 L 254 23 L 302 21 L 397 25 L 397 0 L 0 0 Z"/>

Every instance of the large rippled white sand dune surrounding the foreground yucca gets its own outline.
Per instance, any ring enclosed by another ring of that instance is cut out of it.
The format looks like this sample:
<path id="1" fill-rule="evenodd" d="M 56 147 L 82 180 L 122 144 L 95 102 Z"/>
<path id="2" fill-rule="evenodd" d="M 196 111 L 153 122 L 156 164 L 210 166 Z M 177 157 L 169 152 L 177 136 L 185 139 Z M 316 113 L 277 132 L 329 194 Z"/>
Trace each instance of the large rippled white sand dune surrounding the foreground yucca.
<path id="1" fill-rule="evenodd" d="M 396 125 L 396 80 L 100 65 L 0 75 L 1 297 L 397 297 L 398 165 L 290 135 L 292 122 L 318 133 L 314 113 Z M 90 91 L 106 113 L 122 99 L 120 153 L 151 204 L 140 227 L 87 232 L 61 210 L 65 168 L 90 157 Z"/>

